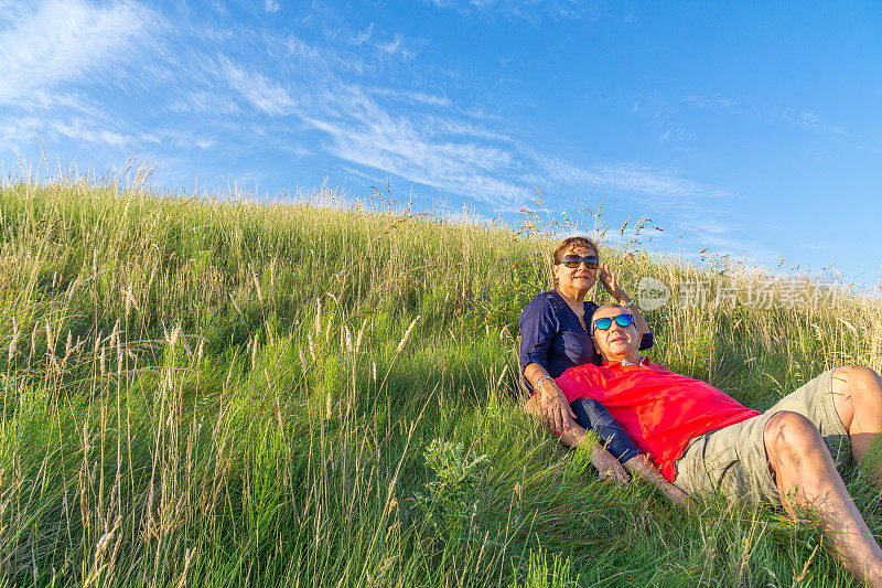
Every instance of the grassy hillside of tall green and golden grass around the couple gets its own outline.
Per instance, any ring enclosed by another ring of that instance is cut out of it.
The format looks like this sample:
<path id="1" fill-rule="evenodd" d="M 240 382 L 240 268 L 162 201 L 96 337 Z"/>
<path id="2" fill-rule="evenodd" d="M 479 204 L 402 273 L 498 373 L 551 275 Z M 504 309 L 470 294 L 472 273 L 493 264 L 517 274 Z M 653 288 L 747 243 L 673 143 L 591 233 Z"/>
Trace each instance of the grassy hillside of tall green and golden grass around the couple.
<path id="1" fill-rule="evenodd" d="M 852 585 L 811 521 L 682 513 L 523 415 L 536 227 L 326 196 L 0 186 L 0 586 Z M 879 300 L 602 253 L 674 288 L 653 359 L 747 405 L 882 368 Z"/>

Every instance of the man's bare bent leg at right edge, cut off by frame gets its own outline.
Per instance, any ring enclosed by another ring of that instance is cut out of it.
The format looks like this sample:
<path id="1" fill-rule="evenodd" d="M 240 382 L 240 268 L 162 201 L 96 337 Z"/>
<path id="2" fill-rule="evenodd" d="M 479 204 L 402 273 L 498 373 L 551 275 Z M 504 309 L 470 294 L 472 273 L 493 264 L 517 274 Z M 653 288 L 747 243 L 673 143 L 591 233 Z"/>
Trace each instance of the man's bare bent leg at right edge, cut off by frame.
<path id="1" fill-rule="evenodd" d="M 843 365 L 833 371 L 832 394 L 851 441 L 851 455 L 860 462 L 882 430 L 882 378 L 869 367 Z M 878 483 L 882 483 L 880 466 L 875 472 Z"/>

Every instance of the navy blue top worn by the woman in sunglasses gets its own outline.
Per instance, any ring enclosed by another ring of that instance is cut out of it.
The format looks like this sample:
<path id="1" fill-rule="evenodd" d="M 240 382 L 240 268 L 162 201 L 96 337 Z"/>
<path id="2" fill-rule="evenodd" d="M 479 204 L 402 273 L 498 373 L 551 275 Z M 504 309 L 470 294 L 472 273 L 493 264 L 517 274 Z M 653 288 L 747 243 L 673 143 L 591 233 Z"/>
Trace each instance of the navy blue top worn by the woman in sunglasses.
<path id="1" fill-rule="evenodd" d="M 585 324 L 591 324 L 598 304 L 585 301 Z M 594 350 L 591 334 L 584 330 L 579 317 L 557 290 L 537 295 L 518 319 L 520 324 L 520 370 L 538 363 L 548 375 L 558 377 L 577 365 L 600 365 L 601 357 Z M 641 340 L 641 349 L 653 346 L 653 333 Z M 527 389 L 533 386 L 524 378 Z"/>

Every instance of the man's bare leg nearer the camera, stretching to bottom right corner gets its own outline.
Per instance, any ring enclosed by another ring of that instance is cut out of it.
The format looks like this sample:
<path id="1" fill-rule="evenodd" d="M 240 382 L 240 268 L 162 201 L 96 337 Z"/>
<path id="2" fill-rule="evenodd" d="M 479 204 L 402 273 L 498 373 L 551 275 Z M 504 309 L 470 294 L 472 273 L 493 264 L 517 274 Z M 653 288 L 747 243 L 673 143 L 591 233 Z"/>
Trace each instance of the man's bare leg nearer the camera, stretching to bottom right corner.
<path id="1" fill-rule="evenodd" d="M 796 413 L 775 414 L 763 434 L 768 464 L 784 507 L 817 513 L 846 567 L 869 586 L 882 587 L 882 549 L 876 544 L 817 427 Z"/>

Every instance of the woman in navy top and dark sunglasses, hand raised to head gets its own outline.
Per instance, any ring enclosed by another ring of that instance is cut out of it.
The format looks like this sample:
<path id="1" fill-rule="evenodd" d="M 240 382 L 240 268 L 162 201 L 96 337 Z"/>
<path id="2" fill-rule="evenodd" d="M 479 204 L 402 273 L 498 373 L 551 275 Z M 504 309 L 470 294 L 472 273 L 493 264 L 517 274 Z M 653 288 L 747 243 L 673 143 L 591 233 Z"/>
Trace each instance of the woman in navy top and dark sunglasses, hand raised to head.
<path id="1" fill-rule="evenodd" d="M 557 287 L 536 296 L 519 319 L 520 367 L 527 388 L 533 392 L 527 410 L 544 417 L 548 427 L 570 447 L 579 445 L 588 429 L 594 429 L 602 445 L 593 448 L 591 462 L 601 477 L 626 480 L 627 470 L 648 480 L 674 502 L 687 504 L 686 494 L 639 453 L 627 432 L 600 403 L 580 398 L 570 405 L 553 379 L 576 365 L 600 364 L 591 335 L 591 317 L 598 304 L 585 301 L 598 277 L 613 300 L 631 311 L 642 334 L 641 349 L 648 349 L 653 345 L 653 333 L 643 314 L 622 290 L 615 274 L 600 260 L 596 244 L 587 237 L 570 237 L 560 244 L 553 254 L 552 272 Z"/>

